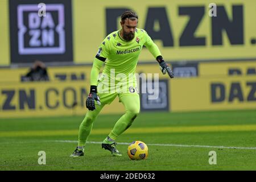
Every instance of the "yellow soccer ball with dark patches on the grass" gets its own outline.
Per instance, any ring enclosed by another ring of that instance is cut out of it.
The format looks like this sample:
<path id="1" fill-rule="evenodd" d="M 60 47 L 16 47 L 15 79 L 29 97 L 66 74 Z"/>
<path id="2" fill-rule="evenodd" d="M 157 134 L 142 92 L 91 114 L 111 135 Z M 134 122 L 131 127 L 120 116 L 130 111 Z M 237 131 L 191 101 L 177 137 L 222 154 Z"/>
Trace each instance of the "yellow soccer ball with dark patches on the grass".
<path id="1" fill-rule="evenodd" d="M 148 148 L 144 142 L 134 141 L 128 146 L 128 156 L 131 160 L 147 159 Z"/>

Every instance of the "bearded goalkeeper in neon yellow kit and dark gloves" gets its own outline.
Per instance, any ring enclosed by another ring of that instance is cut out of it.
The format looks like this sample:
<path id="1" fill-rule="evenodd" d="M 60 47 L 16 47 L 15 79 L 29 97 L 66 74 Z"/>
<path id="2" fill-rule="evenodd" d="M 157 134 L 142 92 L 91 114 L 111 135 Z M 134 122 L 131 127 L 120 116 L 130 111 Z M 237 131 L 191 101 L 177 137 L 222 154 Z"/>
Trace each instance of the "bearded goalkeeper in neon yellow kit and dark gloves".
<path id="1" fill-rule="evenodd" d="M 126 112 L 115 123 L 108 137 L 102 141 L 102 148 L 109 150 L 114 156 L 121 156 L 121 153 L 116 148 L 117 143 L 115 140 L 131 126 L 139 114 L 140 102 L 135 76 L 129 79 L 128 82 L 125 81 L 123 83 L 122 79 L 112 75 L 113 73 L 115 75 L 122 74 L 130 78 L 129 75 L 135 73 L 138 57 L 143 46 L 146 46 L 158 61 L 162 72 L 167 72 L 171 78 L 174 77 L 171 68 L 164 62 L 159 48 L 148 36 L 147 32 L 137 28 L 137 14 L 134 11 L 126 11 L 122 14 L 120 23 L 122 29 L 106 36 L 93 61 L 90 73 L 90 93 L 86 98 L 86 107 L 89 111 L 79 127 L 79 143 L 71 155 L 73 157 L 84 156 L 84 146 L 92 130 L 93 122 L 101 109 L 106 104 L 110 104 L 117 96 L 125 106 Z M 100 69 L 104 63 L 102 77 L 98 80 Z M 114 84 L 109 85 L 109 82 Z M 120 83 L 122 86 L 115 90 L 116 85 Z M 123 86 L 123 84 L 129 84 L 129 86 Z"/>

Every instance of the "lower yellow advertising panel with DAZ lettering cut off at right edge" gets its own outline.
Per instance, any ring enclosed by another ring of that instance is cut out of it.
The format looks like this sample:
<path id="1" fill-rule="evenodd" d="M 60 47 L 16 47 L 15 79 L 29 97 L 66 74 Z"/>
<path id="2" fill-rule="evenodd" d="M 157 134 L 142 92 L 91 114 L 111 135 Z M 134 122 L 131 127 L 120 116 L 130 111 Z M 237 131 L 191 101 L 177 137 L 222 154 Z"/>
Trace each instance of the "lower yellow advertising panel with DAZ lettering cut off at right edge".
<path id="1" fill-rule="evenodd" d="M 256 76 L 180 78 L 170 90 L 171 111 L 256 109 Z"/>

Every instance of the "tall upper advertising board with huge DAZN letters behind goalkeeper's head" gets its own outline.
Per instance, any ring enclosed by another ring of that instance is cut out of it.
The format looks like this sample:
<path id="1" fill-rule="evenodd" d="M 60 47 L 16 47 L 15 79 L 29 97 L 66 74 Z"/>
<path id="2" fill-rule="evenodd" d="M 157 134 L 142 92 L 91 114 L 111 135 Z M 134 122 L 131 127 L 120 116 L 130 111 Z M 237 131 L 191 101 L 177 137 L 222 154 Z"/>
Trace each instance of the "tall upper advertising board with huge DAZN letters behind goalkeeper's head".
<path id="1" fill-rule="evenodd" d="M 128 9 L 138 14 L 138 27 L 148 32 L 168 61 L 256 58 L 256 1 L 252 0 L 216 0 L 214 4 L 210 0 L 131 0 L 129 3 L 58 0 L 47 4 L 52 8 L 56 6 L 54 12 L 48 11 L 46 18 L 48 24 L 52 24 L 51 31 L 56 37 L 48 32 L 47 27 L 43 30 L 36 28 L 35 31 L 32 27 L 36 24 L 31 19 L 28 21 L 29 17 L 38 19 L 34 16 L 38 10 L 37 1 L 30 2 L 35 8 L 31 11 L 22 1 L 13 1 L 9 5 L 9 1 L 1 0 L 0 3 L 1 66 L 32 63 L 36 59 L 92 63 L 106 35 L 121 28 L 120 15 Z M 53 16 L 59 7 L 60 15 L 65 14 L 60 22 Z M 22 19 L 17 19 L 18 15 L 24 15 L 25 21 L 19 22 Z M 23 30 L 18 26 L 22 23 L 26 27 L 24 35 L 20 34 Z M 65 24 L 61 32 L 65 36 L 59 35 L 58 24 Z M 44 36 L 40 36 L 41 33 Z M 154 60 L 155 57 L 143 48 L 139 61 Z"/>

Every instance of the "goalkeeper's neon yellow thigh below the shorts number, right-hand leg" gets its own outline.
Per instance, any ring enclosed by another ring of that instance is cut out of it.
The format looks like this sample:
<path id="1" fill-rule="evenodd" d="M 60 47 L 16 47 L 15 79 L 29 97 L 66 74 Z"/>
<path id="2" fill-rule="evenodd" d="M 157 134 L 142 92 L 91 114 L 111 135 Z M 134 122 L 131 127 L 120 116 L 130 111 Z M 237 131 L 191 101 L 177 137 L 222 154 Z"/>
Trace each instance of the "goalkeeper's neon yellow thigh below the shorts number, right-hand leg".
<path id="1" fill-rule="evenodd" d="M 118 94 L 118 97 L 127 111 L 131 111 L 135 114 L 139 113 L 140 102 L 138 93 L 123 93 Z"/>

